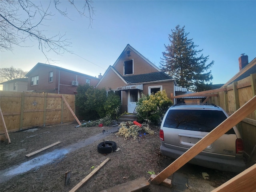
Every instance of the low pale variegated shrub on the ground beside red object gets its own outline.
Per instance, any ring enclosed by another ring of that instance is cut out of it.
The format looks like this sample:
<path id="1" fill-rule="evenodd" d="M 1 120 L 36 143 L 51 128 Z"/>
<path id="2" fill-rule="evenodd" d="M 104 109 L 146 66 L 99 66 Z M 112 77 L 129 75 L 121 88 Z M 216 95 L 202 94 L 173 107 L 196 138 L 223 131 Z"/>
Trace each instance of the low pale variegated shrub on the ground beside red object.
<path id="1" fill-rule="evenodd" d="M 120 136 L 124 136 L 124 139 L 133 138 L 136 140 L 136 138 L 141 138 L 146 134 L 154 135 L 154 131 L 151 130 L 145 122 L 142 124 L 142 126 L 135 125 L 133 122 L 122 122 L 120 123 L 121 128 L 118 131 L 118 134 Z"/>

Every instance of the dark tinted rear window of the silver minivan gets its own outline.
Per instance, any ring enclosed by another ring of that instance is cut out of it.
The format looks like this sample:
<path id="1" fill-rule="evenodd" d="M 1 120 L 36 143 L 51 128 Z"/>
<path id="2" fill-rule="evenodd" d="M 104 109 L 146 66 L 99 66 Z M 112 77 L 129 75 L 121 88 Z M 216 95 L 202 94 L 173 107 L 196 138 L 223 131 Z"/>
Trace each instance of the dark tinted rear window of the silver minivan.
<path id="1" fill-rule="evenodd" d="M 222 111 L 215 110 L 169 110 L 164 127 L 210 132 L 226 119 Z M 226 134 L 235 134 L 231 128 Z"/>

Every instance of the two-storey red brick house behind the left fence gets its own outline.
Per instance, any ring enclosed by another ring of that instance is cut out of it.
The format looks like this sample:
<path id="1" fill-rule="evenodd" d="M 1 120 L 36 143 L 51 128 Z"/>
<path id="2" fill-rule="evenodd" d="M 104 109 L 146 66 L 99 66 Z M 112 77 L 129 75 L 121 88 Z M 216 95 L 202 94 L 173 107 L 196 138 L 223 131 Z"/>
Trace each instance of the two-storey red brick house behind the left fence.
<path id="1" fill-rule="evenodd" d="M 78 84 L 95 86 L 99 78 L 64 69 L 58 66 L 38 63 L 27 74 L 28 91 L 58 94 L 76 94 Z"/>

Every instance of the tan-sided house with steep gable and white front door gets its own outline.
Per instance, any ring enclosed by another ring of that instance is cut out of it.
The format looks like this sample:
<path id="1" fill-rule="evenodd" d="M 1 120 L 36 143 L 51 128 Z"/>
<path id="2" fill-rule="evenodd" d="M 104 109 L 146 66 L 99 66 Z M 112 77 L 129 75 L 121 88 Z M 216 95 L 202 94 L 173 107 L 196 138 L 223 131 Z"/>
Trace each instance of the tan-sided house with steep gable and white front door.
<path id="1" fill-rule="evenodd" d="M 134 113 L 136 102 L 142 93 L 147 95 L 165 90 L 170 98 L 171 95 L 175 96 L 175 90 L 187 91 L 177 87 L 174 78 L 165 74 L 129 44 L 113 66 L 108 67 L 95 87 L 105 88 L 107 92 L 118 92 L 122 101 L 121 113 Z"/>

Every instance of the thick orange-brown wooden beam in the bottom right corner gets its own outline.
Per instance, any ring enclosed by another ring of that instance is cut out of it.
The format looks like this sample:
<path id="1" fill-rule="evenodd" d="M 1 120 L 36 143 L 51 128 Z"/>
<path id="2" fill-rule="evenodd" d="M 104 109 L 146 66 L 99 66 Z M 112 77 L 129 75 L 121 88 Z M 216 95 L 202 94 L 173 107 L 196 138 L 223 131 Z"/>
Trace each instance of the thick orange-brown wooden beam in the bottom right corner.
<path id="1" fill-rule="evenodd" d="M 212 192 L 241 192 L 256 191 L 256 164 L 244 170 L 242 173 L 228 180 L 226 183 L 212 190 Z"/>

